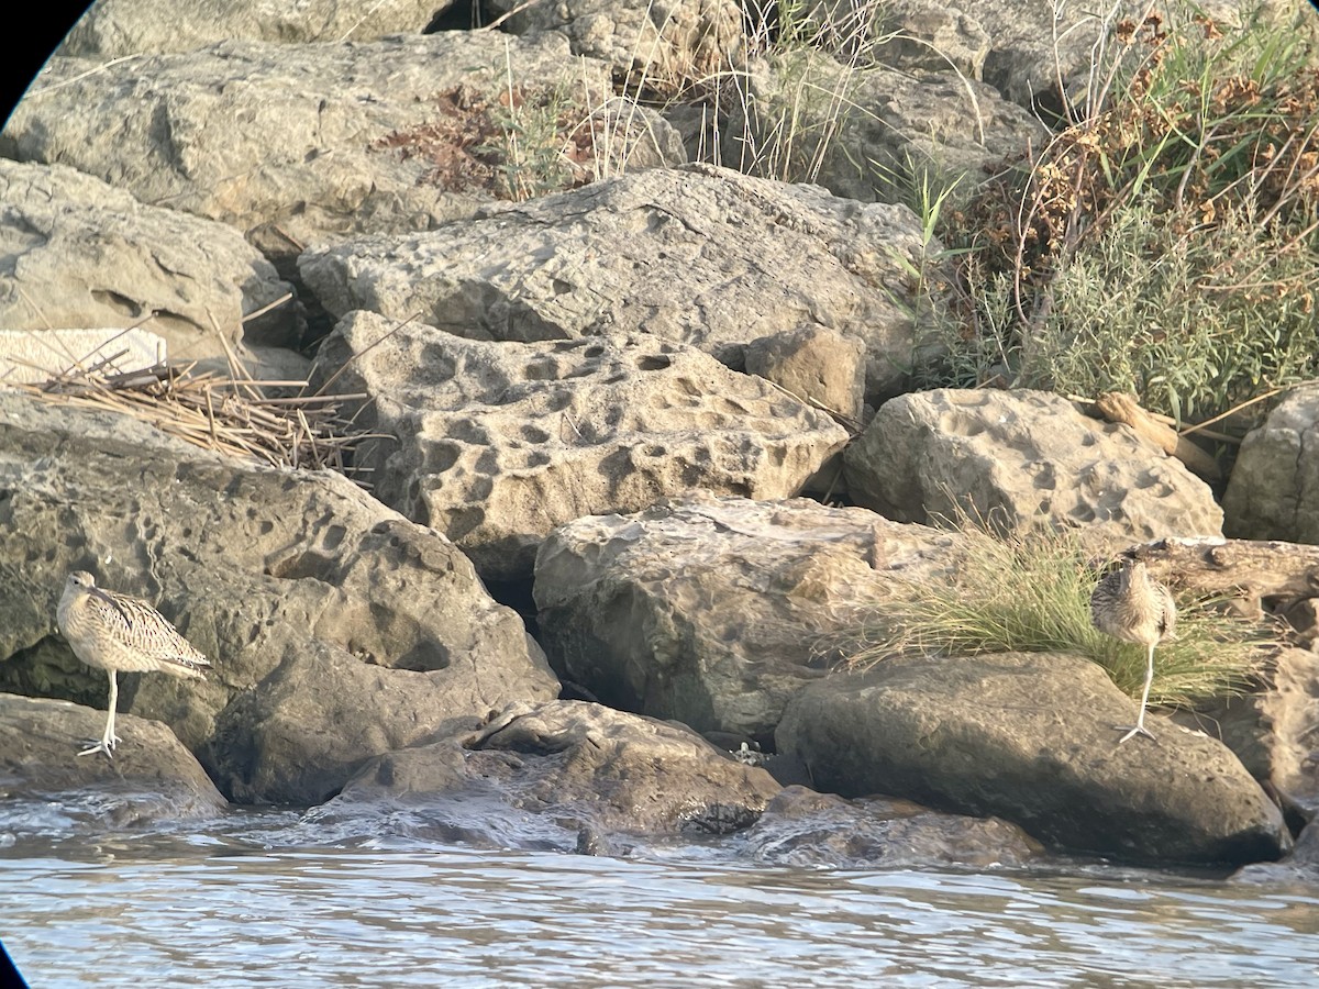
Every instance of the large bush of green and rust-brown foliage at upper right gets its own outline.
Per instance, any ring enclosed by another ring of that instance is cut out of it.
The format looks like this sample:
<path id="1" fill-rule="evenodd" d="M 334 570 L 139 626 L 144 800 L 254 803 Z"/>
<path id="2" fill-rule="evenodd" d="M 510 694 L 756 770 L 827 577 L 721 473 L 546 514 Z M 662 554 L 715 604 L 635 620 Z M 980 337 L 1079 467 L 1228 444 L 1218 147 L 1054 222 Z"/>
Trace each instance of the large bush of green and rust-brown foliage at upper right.
<path id="1" fill-rule="evenodd" d="M 944 211 L 959 318 L 919 382 L 1204 421 L 1319 376 L 1311 59 L 1289 25 L 1116 25 L 1054 140 Z"/>

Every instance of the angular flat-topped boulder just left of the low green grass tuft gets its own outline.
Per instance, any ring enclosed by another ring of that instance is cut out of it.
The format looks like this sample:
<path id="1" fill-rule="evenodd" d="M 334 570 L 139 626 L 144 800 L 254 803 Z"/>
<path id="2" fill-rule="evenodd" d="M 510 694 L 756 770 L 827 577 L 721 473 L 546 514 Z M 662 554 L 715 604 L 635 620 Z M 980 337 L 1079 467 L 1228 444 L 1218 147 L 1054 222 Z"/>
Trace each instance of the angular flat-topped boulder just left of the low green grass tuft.
<path id="1" fill-rule="evenodd" d="M 768 742 L 831 637 L 901 582 L 946 579 L 956 534 L 797 498 L 692 494 L 579 518 L 536 562 L 543 645 L 613 707 Z"/>

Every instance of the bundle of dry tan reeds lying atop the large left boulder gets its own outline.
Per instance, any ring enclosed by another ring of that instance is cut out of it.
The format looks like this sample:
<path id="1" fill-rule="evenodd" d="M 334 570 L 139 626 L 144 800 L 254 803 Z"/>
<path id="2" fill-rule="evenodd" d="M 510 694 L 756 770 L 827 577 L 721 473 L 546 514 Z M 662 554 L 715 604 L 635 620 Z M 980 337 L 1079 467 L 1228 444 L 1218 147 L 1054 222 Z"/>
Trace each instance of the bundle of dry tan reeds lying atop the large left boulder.
<path id="1" fill-rule="evenodd" d="M 255 381 L 232 371 L 228 376 L 198 372 L 195 365 L 107 372 L 113 360 L 107 357 L 92 367 L 77 364 L 42 384 L 18 388 L 44 401 L 133 415 L 230 456 L 274 467 L 330 468 L 369 487 L 347 454 L 372 434 L 342 414 L 344 402 L 360 407 L 367 396 L 272 397 L 272 390 L 305 389 L 307 382 Z"/>

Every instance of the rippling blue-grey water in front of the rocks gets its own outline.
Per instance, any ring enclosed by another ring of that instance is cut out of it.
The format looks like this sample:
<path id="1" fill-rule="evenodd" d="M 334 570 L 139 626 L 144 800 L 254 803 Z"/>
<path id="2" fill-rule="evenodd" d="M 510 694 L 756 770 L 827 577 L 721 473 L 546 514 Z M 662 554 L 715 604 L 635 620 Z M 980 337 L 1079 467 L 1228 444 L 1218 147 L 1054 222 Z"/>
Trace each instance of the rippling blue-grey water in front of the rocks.
<path id="1" fill-rule="evenodd" d="M 198 833 L 11 832 L 4 944 L 34 989 L 1319 981 L 1319 887 L 307 837 L 259 814 Z"/>

